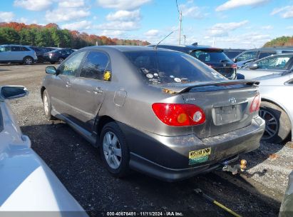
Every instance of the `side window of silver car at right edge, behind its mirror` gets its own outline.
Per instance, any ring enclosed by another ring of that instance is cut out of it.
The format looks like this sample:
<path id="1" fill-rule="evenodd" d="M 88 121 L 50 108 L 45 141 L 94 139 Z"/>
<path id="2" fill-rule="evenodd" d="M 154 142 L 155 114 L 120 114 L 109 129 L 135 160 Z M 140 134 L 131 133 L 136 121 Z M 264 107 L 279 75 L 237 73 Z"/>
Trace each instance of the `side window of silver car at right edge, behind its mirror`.
<path id="1" fill-rule="evenodd" d="M 257 69 L 287 69 L 287 64 L 292 56 L 279 56 L 262 59 L 257 61 Z"/>

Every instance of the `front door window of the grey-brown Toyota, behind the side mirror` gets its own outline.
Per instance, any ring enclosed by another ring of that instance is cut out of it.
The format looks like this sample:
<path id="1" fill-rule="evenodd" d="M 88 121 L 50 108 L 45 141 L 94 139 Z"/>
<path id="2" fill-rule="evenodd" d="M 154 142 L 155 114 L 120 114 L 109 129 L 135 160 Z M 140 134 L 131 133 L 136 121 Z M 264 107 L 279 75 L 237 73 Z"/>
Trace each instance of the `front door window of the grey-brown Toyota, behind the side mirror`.
<path id="1" fill-rule="evenodd" d="M 74 56 L 71 56 L 71 58 L 67 59 L 66 61 L 63 61 L 63 64 L 61 64 L 61 66 L 59 67 L 59 74 L 65 76 L 76 76 L 85 54 L 86 51 L 80 52 Z"/>

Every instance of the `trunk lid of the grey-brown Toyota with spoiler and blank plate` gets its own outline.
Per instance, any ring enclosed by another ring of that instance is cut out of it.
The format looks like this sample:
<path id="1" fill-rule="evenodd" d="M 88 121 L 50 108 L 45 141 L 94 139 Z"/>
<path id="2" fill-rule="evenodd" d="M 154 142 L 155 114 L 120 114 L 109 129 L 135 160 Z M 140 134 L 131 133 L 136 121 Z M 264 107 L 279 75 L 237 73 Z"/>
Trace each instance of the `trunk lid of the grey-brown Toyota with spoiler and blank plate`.
<path id="1" fill-rule="evenodd" d="M 206 121 L 192 126 L 199 138 L 220 135 L 249 126 L 255 113 L 250 104 L 258 94 L 257 81 L 205 82 L 190 86 L 165 86 L 165 91 L 183 96 L 186 104 L 200 106 Z"/>

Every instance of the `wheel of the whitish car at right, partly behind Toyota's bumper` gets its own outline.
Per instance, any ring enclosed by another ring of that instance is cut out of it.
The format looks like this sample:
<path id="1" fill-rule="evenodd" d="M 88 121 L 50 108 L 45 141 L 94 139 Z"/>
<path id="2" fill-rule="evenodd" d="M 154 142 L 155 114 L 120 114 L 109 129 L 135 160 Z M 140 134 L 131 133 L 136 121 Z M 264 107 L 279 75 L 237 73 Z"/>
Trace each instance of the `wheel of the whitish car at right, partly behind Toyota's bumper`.
<path id="1" fill-rule="evenodd" d="M 287 113 L 279 106 L 262 101 L 259 116 L 265 121 L 264 135 L 262 141 L 269 143 L 282 143 L 291 131 L 291 123 Z M 281 123 L 281 124 L 280 124 Z"/>

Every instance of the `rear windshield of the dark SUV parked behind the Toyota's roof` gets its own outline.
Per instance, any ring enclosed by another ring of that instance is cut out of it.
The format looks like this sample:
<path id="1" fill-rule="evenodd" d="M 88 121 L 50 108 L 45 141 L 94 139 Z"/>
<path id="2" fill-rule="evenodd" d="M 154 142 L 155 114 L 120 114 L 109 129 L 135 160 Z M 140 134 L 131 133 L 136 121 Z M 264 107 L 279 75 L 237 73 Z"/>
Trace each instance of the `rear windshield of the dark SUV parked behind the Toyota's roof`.
<path id="1" fill-rule="evenodd" d="M 222 63 L 225 61 L 230 61 L 230 59 L 224 54 L 222 50 L 199 50 L 192 51 L 191 56 L 204 63 Z"/>

